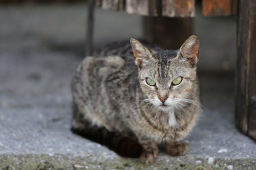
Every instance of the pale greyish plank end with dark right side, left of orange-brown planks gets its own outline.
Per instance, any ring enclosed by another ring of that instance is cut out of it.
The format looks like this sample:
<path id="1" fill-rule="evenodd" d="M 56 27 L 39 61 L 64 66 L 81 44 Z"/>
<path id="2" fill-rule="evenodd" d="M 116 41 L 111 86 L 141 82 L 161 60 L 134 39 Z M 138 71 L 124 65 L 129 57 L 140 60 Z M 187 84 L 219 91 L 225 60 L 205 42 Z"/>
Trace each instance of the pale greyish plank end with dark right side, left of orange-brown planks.
<path id="1" fill-rule="evenodd" d="M 161 14 L 161 1 L 159 0 L 126 0 L 126 12 L 145 16 L 158 16 Z"/>

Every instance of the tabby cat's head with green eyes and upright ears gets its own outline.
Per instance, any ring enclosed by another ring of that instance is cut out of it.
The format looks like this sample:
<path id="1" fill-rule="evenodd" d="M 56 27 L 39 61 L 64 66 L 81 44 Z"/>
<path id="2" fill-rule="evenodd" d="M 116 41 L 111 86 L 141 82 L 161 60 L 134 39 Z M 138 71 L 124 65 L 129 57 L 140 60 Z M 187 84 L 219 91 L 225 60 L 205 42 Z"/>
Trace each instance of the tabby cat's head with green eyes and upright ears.
<path id="1" fill-rule="evenodd" d="M 191 35 L 177 51 L 154 51 L 133 38 L 131 45 L 140 86 L 147 96 L 144 102 L 163 111 L 189 103 L 197 81 L 198 36 Z"/>

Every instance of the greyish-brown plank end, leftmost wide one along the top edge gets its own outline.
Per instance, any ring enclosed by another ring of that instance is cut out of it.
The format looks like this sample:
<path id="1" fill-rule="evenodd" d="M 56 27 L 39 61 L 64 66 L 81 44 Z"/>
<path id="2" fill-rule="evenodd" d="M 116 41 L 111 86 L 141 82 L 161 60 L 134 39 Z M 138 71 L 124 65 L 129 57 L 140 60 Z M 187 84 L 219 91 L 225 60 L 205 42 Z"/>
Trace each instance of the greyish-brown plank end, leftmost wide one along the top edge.
<path id="1" fill-rule="evenodd" d="M 101 0 L 103 9 L 122 11 L 124 9 L 125 0 Z"/>

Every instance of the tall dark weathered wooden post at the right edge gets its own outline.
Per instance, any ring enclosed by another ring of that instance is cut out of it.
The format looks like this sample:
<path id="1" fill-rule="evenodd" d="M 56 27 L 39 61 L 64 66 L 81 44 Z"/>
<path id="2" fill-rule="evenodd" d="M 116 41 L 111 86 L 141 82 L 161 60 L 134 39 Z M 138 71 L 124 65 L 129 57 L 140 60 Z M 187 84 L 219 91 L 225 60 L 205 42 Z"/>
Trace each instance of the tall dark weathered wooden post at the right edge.
<path id="1" fill-rule="evenodd" d="M 240 0 L 236 70 L 236 123 L 256 140 L 256 0 Z"/>

